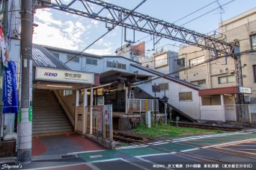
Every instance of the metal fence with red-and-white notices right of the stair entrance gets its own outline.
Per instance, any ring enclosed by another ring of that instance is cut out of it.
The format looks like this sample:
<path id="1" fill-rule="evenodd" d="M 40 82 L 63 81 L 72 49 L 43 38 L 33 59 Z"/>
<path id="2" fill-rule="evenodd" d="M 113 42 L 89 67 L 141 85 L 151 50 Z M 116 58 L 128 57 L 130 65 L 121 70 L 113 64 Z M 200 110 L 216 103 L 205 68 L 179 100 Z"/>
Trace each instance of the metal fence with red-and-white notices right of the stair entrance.
<path id="1" fill-rule="evenodd" d="M 113 140 L 113 125 L 112 125 L 112 105 L 92 106 L 87 107 L 87 132 L 90 132 L 90 117 L 92 114 L 92 135 L 97 138 Z"/>

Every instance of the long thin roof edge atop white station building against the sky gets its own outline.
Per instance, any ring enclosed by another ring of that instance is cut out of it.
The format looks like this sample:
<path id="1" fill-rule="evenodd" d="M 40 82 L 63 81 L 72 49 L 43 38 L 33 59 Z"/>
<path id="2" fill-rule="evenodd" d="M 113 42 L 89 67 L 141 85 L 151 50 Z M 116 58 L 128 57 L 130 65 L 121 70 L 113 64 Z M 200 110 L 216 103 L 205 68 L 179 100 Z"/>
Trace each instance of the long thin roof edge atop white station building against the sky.
<path id="1" fill-rule="evenodd" d="M 57 51 L 57 52 L 63 52 L 63 53 L 67 53 L 67 54 L 79 54 L 79 56 L 83 56 L 83 57 L 102 58 L 102 56 L 100 56 L 100 55 L 90 54 L 90 53 L 85 53 L 85 52 L 81 53 L 81 51 L 73 51 L 73 50 L 68 50 L 68 49 L 64 49 L 64 48 L 52 47 L 52 46 L 48 46 L 48 45 L 42 45 L 42 46 L 49 51 Z"/>

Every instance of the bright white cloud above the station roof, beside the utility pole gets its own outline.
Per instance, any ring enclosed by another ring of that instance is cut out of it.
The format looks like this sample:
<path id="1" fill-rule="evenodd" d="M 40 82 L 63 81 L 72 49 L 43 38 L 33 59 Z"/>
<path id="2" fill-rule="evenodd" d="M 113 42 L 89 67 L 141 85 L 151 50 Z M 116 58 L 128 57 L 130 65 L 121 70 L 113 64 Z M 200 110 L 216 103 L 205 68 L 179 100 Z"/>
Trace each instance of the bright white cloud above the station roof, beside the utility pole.
<path id="1" fill-rule="evenodd" d="M 38 10 L 35 22 L 38 27 L 34 28 L 33 41 L 38 44 L 51 45 L 59 48 L 79 50 L 83 47 L 88 36 L 88 28 L 91 25 L 83 25 L 76 19 L 67 21 L 55 19 L 49 10 Z"/>

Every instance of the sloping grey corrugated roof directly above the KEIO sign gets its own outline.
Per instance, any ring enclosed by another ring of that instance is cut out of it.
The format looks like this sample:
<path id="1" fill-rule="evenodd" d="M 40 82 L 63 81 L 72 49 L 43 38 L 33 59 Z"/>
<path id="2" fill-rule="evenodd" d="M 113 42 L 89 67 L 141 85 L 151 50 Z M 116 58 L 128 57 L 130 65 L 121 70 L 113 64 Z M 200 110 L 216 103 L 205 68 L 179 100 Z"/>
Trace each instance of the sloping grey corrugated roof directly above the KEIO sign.
<path id="1" fill-rule="evenodd" d="M 48 67 L 55 69 L 69 69 L 61 60 L 58 60 L 50 51 L 43 47 L 43 45 L 33 44 L 32 58 L 34 66 Z"/>

